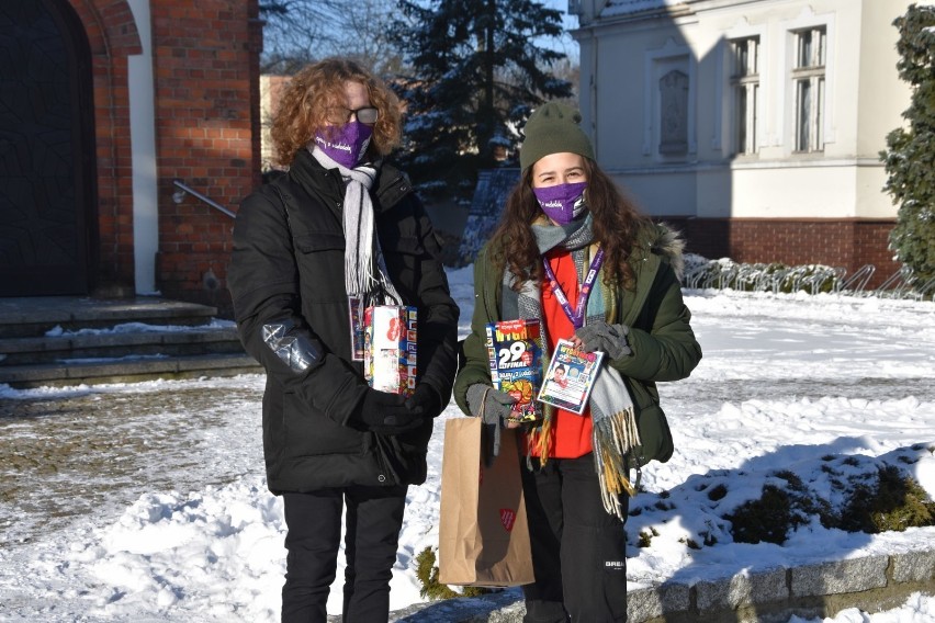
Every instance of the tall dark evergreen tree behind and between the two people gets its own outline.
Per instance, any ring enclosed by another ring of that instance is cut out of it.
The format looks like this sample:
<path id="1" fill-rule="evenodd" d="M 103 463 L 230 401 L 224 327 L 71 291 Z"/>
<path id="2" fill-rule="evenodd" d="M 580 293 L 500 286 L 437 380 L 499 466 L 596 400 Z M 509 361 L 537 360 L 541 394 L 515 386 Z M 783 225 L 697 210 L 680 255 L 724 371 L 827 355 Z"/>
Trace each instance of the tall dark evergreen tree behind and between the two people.
<path id="1" fill-rule="evenodd" d="M 563 53 L 540 45 L 562 35 L 562 14 L 531 0 L 399 0 L 395 24 L 412 76 L 404 168 L 428 195 L 470 201 L 477 170 L 499 165 L 531 110 L 571 98 L 553 76 Z"/>

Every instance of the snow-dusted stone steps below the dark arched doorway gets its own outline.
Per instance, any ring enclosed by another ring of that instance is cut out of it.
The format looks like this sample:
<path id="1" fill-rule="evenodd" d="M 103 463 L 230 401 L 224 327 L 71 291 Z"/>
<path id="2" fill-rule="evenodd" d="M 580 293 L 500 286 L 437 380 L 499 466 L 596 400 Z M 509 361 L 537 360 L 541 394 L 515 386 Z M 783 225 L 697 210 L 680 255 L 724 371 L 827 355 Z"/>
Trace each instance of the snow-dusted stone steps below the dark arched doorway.
<path id="1" fill-rule="evenodd" d="M 0 298 L 0 384 L 15 388 L 261 373 L 217 309 L 140 296 Z"/>

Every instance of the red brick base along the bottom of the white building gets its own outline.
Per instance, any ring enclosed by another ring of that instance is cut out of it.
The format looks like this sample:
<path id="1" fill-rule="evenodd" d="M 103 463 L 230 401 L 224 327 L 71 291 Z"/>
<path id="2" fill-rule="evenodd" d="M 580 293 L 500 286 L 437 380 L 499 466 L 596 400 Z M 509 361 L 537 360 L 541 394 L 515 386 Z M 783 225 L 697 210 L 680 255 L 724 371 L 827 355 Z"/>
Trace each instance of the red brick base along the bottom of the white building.
<path id="1" fill-rule="evenodd" d="M 844 267 L 850 274 L 864 264 L 877 270 L 874 287 L 899 270 L 888 249 L 894 219 L 660 218 L 683 233 L 688 252 L 736 262 Z"/>

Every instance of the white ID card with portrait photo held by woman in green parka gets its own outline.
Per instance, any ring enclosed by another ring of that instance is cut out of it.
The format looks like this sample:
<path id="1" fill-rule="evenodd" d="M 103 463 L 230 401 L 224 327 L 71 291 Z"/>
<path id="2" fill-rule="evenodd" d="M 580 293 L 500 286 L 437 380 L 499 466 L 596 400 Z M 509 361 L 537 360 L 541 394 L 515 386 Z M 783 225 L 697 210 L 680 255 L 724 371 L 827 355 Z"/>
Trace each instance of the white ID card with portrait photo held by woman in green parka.
<path id="1" fill-rule="evenodd" d="M 559 340 L 545 371 L 539 400 L 573 414 L 583 414 L 601 359 L 604 353 L 600 351 L 584 352 L 576 350 L 568 340 Z"/>

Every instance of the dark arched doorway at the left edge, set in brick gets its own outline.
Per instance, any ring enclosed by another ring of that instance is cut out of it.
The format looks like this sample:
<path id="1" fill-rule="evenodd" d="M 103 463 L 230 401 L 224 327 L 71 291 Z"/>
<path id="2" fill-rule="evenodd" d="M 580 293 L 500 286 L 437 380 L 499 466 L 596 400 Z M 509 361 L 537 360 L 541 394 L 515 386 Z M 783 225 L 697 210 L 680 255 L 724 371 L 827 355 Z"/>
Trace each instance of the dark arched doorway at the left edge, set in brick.
<path id="1" fill-rule="evenodd" d="M 0 296 L 90 291 L 93 124 L 91 53 L 71 7 L 0 3 Z"/>

